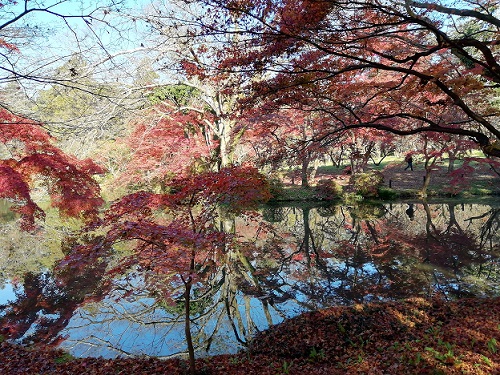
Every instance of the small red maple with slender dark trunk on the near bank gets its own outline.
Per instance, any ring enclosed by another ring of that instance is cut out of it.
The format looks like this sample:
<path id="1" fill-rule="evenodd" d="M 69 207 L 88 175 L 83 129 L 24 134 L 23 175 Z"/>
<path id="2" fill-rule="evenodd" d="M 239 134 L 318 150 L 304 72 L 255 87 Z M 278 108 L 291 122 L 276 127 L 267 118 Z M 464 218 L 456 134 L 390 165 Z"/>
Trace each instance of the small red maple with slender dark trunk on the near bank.
<path id="1" fill-rule="evenodd" d="M 86 229 L 105 233 L 102 240 L 76 247 L 68 261 L 107 251 L 115 243 L 133 243 L 133 254 L 109 275 L 139 272 L 157 298 L 183 300 L 190 372 L 194 374 L 190 301 L 198 283 L 215 271 L 221 254 L 235 240 L 217 218 L 255 209 L 269 199 L 269 190 L 265 178 L 247 166 L 190 173 L 170 181 L 167 190 L 161 194 L 138 191 L 116 201 L 100 221 Z"/>

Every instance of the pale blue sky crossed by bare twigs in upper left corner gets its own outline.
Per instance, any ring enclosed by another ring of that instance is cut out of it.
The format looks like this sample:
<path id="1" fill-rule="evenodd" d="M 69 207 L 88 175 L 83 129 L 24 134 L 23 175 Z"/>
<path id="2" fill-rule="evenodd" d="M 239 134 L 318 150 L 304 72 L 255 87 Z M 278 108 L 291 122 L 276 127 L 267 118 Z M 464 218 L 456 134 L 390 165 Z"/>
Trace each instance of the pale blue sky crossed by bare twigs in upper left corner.
<path id="1" fill-rule="evenodd" d="M 0 7 L 0 25 L 22 14 L 26 5 L 28 9 L 48 9 L 57 14 L 78 16 L 62 18 L 49 12 L 33 11 L 9 25 L 9 28 L 0 30 L 0 38 L 15 44 L 20 50 L 18 54 L 10 54 L 9 60 L 0 56 L 0 67 L 10 68 L 11 64 L 15 64 L 15 70 L 22 74 L 44 75 L 44 72 L 63 65 L 75 52 L 83 52 L 87 58 L 99 61 L 106 59 L 108 54 L 137 49 L 141 43 L 137 39 L 141 26 L 122 16 L 127 13 L 127 9 L 138 9 L 144 2 L 47 0 L 21 1 L 16 5 Z M 113 8 L 107 8 L 108 4 L 118 4 L 124 12 L 117 13 Z M 110 11 L 105 11 L 107 9 Z M 93 20 L 79 18 L 90 13 Z M 23 34 L 28 30 L 35 33 L 36 37 L 28 39 Z M 0 72 L 0 78 L 4 75 L 8 76 L 9 73 Z"/>

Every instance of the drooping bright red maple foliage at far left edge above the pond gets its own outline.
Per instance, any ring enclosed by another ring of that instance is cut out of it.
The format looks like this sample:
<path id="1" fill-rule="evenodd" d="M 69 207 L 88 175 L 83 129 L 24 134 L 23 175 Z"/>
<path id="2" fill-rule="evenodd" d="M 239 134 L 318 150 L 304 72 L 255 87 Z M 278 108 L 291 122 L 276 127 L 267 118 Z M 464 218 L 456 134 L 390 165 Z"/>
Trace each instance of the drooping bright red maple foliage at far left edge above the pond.
<path id="1" fill-rule="evenodd" d="M 92 219 L 103 203 L 93 175 L 104 171 L 91 160 L 78 160 L 54 146 L 42 125 L 0 111 L 0 197 L 12 200 L 22 226 L 33 229 L 43 210 L 33 199 L 47 189 L 52 206 L 66 216 Z"/>

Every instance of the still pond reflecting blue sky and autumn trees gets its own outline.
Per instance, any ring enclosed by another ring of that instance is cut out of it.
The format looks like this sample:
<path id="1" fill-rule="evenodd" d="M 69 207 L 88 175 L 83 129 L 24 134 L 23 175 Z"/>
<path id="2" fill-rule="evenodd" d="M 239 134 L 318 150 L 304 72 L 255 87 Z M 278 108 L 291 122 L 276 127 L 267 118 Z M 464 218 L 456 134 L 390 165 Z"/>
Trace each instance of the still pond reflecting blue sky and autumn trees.
<path id="1" fill-rule="evenodd" d="M 64 226 L 21 233 L 2 212 L 5 338 L 76 357 L 186 353 L 181 295 L 167 301 L 139 271 L 103 282 L 126 248 L 68 265 Z M 266 206 L 257 221 L 228 226 L 241 246 L 193 292 L 198 356 L 234 353 L 256 332 L 323 307 L 500 295 L 498 200 Z"/>

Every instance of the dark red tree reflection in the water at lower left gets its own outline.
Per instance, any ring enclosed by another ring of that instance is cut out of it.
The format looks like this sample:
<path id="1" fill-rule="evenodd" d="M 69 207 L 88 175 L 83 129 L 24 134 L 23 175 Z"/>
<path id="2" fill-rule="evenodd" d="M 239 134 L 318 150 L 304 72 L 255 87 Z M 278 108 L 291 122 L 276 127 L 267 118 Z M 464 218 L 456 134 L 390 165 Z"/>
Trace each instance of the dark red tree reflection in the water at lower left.
<path id="1" fill-rule="evenodd" d="M 0 314 L 2 335 L 30 344 L 57 345 L 59 332 L 75 310 L 89 298 L 102 298 L 99 289 L 106 270 L 106 255 L 95 251 L 61 262 L 52 271 L 27 273 L 15 284 L 17 299 Z"/>

